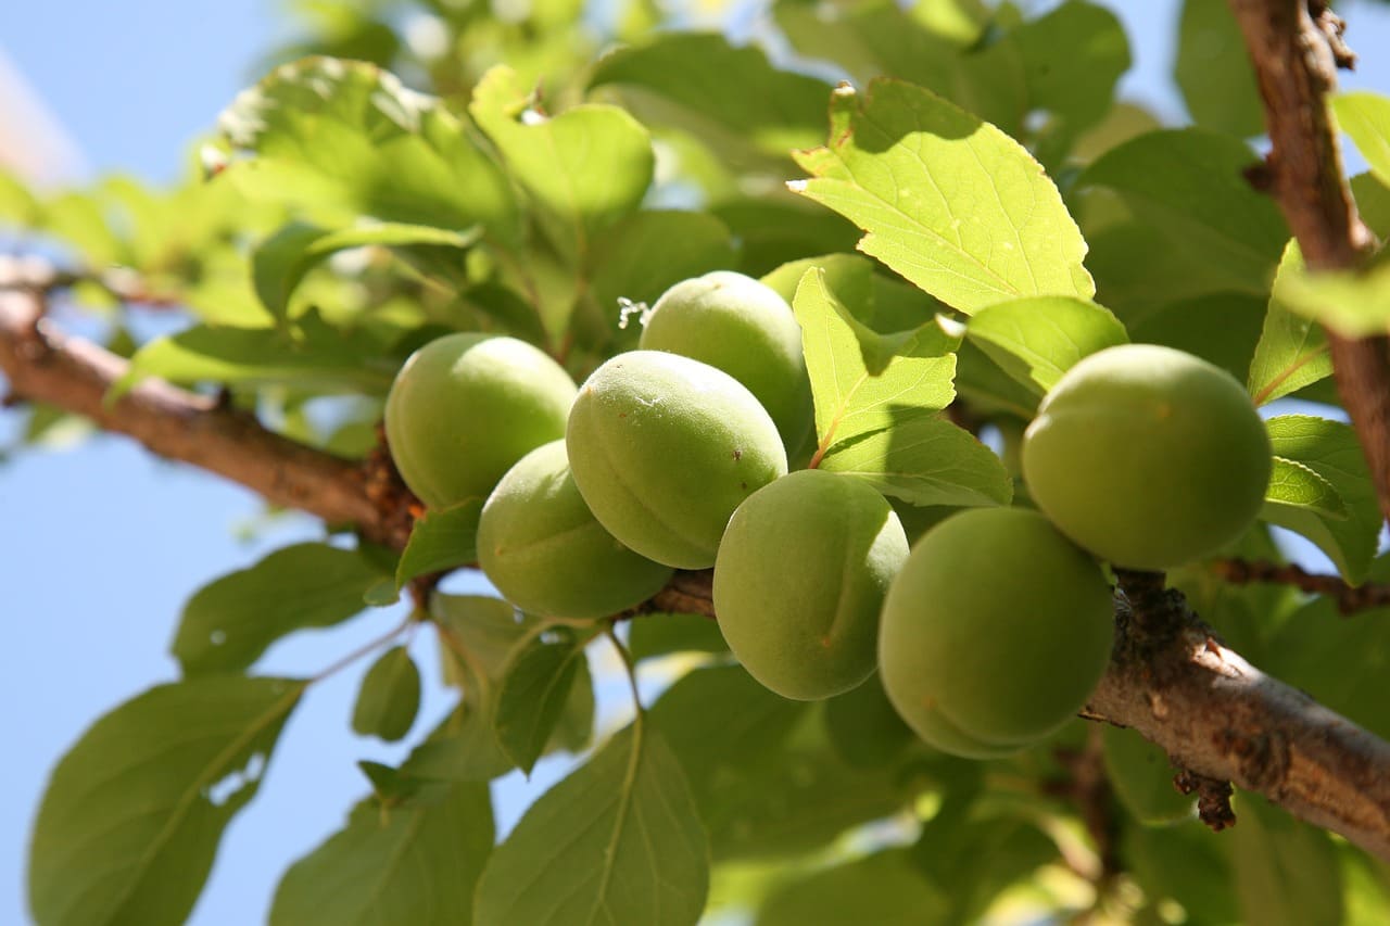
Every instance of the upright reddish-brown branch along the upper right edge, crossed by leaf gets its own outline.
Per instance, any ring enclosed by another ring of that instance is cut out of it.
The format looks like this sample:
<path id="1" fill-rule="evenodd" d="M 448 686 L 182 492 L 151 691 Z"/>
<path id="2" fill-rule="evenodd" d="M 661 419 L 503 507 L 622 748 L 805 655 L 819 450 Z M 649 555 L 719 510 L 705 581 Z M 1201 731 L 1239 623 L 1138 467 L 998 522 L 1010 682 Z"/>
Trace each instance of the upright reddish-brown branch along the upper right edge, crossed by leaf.
<path id="1" fill-rule="evenodd" d="M 1265 100 L 1272 143 L 1264 181 L 1309 270 L 1351 270 L 1375 241 L 1357 216 L 1327 111 L 1337 65 L 1352 56 L 1341 21 L 1314 0 L 1230 0 Z M 1309 7 L 1312 11 L 1309 11 Z M 1390 338 L 1327 332 L 1337 391 L 1390 517 Z"/>

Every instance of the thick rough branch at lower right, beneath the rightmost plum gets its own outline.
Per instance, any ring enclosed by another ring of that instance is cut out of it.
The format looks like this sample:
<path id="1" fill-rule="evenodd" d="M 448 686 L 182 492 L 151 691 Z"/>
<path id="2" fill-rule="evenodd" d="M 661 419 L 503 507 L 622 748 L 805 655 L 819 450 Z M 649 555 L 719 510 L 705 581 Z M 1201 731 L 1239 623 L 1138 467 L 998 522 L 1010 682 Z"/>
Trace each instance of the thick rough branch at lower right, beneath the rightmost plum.
<path id="1" fill-rule="evenodd" d="M 1211 816 L 1220 799 L 1202 779 L 1232 781 L 1390 859 L 1390 744 L 1223 647 L 1179 592 L 1144 580 L 1129 598 L 1133 576 L 1122 576 L 1111 665 L 1081 716 L 1166 749 Z M 1151 608 L 1166 613 L 1138 613 Z"/>

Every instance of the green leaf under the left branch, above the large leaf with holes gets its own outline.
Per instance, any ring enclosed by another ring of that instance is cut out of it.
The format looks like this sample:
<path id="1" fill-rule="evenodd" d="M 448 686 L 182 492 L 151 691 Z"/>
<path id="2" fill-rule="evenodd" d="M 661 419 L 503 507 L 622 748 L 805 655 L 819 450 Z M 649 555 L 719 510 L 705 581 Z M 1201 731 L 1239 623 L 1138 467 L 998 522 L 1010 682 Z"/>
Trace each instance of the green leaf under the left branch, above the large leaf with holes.
<path id="1" fill-rule="evenodd" d="M 382 571 L 359 551 L 296 544 L 200 588 L 170 651 L 185 676 L 247 669 L 281 637 L 363 610 Z"/>

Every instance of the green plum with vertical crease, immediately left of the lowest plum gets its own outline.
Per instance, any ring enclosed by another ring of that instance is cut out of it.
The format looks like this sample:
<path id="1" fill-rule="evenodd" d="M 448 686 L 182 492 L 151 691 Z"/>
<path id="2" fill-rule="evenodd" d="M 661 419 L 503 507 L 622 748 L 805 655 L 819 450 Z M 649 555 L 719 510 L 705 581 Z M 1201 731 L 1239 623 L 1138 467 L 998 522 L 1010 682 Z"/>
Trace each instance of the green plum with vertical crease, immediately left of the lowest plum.
<path id="1" fill-rule="evenodd" d="M 801 470 L 738 506 L 714 562 L 714 613 L 748 673 L 817 701 L 867 679 L 908 538 L 867 482 Z"/>

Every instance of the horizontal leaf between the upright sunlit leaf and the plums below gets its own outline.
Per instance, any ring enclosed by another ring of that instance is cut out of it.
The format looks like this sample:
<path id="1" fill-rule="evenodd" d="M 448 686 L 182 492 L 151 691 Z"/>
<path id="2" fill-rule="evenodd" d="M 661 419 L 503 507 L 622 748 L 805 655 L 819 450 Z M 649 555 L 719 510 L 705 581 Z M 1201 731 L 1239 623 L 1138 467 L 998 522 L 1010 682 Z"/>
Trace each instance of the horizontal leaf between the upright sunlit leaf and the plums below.
<path id="1" fill-rule="evenodd" d="M 1008 505 L 1013 498 L 1013 480 L 994 450 L 940 417 L 838 441 L 820 469 L 858 476 L 912 505 Z"/>

